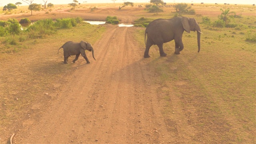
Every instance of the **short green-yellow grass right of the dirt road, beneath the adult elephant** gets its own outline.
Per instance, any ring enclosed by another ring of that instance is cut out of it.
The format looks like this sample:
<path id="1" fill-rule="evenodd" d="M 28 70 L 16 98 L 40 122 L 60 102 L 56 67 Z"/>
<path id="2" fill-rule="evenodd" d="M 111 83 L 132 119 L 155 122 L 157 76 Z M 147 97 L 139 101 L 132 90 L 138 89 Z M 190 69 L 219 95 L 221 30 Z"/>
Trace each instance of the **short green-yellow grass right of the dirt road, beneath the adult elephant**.
<path id="1" fill-rule="evenodd" d="M 200 26 L 204 34 L 199 53 L 196 32 L 184 32 L 184 50 L 180 55 L 173 54 L 174 41 L 164 44 L 166 57 L 159 56 L 157 46 L 150 48 L 148 64 L 155 69 L 158 93 L 164 95 L 162 114 L 172 118 L 174 108 L 170 98 L 175 95 L 188 123 L 200 131 L 194 134 L 194 139 L 206 143 L 254 143 L 254 29 L 210 30 Z M 138 30 L 135 35 L 144 49 L 144 30 Z M 249 37 L 252 41 L 247 42 Z"/>

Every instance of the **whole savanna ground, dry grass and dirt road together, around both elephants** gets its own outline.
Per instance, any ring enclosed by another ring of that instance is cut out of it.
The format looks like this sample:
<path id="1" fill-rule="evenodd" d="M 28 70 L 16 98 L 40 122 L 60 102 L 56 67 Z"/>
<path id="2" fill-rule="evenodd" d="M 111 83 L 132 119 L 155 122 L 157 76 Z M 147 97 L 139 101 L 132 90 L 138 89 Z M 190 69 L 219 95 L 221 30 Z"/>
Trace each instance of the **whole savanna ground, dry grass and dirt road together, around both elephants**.
<path id="1" fill-rule="evenodd" d="M 117 16 L 120 23 L 135 24 L 176 15 L 174 8 L 148 13 L 138 4 L 118 10 L 120 5 L 56 5 L 32 16 L 18 8 L 1 12 L 0 19 Z M 192 8 L 196 14 L 182 16 L 200 25 L 199 53 L 196 32 L 184 32 L 181 54 L 174 54 L 172 41 L 164 44 L 166 57 L 152 46 L 151 57 L 143 58 L 145 28 L 111 24 L 81 22 L 47 34 L 0 37 L 0 142 L 15 133 L 15 143 L 253 144 L 256 7 Z M 239 17 L 219 26 L 220 8 Z M 91 64 L 82 57 L 72 64 L 74 56 L 63 64 L 57 50 L 69 40 L 90 42 L 96 61 L 86 52 Z"/>

